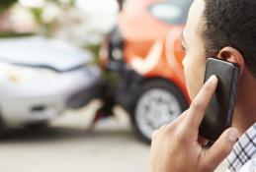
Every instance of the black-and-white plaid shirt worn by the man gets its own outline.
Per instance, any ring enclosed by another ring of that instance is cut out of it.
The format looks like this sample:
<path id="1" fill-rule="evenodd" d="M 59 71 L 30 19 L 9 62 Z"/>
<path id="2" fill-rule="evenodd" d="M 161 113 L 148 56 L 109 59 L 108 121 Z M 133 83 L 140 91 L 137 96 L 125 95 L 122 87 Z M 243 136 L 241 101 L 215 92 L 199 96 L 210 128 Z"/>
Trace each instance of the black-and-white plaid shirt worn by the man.
<path id="1" fill-rule="evenodd" d="M 235 143 L 226 161 L 230 172 L 256 171 L 256 123 Z"/>

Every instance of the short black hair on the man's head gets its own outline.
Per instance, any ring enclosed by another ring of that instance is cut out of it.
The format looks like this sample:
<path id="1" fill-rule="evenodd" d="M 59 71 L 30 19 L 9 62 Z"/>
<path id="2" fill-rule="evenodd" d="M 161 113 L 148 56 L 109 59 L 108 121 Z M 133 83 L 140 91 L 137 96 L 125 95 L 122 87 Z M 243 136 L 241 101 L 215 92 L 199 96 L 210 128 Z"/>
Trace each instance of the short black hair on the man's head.
<path id="1" fill-rule="evenodd" d="M 205 0 L 206 56 L 232 46 L 256 77 L 256 0 Z"/>

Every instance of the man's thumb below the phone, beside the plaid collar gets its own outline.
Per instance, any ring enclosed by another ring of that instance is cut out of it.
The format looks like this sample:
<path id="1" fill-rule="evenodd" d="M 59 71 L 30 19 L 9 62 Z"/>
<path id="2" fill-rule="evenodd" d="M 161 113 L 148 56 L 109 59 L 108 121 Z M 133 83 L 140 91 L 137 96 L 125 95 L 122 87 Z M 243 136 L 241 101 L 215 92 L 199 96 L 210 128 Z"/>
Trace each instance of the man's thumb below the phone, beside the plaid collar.
<path id="1" fill-rule="evenodd" d="M 234 143 L 238 139 L 238 131 L 235 128 L 229 128 L 213 143 L 207 150 L 204 164 L 208 169 L 215 169 L 224 158 L 231 152 Z"/>

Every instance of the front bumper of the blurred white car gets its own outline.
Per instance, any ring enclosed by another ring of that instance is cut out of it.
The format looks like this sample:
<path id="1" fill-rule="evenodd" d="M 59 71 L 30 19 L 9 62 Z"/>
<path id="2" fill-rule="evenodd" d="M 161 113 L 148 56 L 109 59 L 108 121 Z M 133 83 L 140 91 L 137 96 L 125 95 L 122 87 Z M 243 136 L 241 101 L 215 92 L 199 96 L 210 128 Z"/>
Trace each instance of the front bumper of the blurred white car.
<path id="1" fill-rule="evenodd" d="M 79 108 L 97 97 L 100 83 L 101 74 L 96 67 L 62 73 L 51 82 L 8 86 L 0 83 L 2 120 L 7 126 L 20 126 L 52 119 L 66 108 Z"/>

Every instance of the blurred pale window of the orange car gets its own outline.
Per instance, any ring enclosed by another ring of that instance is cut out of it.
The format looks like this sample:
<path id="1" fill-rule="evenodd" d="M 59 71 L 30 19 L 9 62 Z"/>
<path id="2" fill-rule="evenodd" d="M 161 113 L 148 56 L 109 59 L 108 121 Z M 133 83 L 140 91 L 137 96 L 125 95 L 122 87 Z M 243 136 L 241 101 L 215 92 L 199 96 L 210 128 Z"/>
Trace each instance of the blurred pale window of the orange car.
<path id="1" fill-rule="evenodd" d="M 150 5 L 149 12 L 168 24 L 185 24 L 192 0 L 168 0 Z"/>

